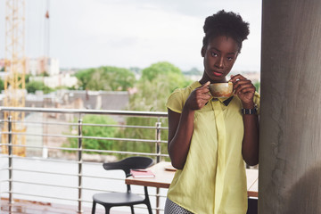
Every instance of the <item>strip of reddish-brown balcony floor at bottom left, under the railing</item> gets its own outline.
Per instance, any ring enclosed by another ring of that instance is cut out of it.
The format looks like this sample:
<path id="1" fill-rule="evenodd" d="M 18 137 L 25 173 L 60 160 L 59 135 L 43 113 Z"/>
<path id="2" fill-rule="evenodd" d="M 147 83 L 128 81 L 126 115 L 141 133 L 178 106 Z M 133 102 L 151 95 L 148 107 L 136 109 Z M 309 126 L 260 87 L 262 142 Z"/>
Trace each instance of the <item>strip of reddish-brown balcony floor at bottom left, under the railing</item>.
<path id="1" fill-rule="evenodd" d="M 103 209 L 96 208 L 96 214 L 104 214 Z M 30 202 L 24 200 L 15 200 L 12 204 L 11 211 L 8 199 L 1 198 L 0 201 L 0 213 L 1 214 L 75 214 L 78 213 L 78 207 L 63 205 L 63 204 L 52 204 L 44 202 Z M 91 213 L 91 208 L 84 207 L 83 213 Z M 128 214 L 129 212 L 112 211 L 111 214 Z"/>

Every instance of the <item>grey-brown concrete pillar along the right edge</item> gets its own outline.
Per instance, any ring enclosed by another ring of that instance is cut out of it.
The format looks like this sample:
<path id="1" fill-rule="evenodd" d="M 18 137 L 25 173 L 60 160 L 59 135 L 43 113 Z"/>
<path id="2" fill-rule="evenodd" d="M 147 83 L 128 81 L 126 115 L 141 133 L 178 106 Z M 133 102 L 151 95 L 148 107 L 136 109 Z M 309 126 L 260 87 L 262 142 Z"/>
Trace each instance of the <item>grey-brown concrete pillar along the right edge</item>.
<path id="1" fill-rule="evenodd" d="M 321 213 L 321 1 L 262 9 L 259 214 Z"/>

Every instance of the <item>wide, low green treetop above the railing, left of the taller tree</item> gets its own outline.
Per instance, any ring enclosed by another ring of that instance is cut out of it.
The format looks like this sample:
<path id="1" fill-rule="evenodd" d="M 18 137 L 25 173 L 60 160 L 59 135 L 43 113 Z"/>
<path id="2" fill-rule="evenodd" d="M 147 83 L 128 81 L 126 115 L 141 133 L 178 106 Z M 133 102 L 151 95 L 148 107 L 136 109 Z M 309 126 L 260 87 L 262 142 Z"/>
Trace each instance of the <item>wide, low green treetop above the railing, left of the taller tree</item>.
<path id="1" fill-rule="evenodd" d="M 80 70 L 75 76 L 78 78 L 80 89 L 94 91 L 126 91 L 136 82 L 132 71 L 111 66 Z"/>

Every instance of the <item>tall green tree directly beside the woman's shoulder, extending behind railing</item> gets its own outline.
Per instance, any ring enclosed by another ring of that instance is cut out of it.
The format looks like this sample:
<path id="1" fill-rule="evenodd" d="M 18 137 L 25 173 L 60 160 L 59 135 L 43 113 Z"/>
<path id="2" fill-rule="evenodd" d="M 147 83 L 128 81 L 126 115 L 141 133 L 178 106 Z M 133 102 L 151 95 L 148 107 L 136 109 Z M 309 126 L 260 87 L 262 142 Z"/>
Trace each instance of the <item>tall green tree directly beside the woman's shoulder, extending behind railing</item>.
<path id="1" fill-rule="evenodd" d="M 137 83 L 137 93 L 131 95 L 129 110 L 132 111 L 167 111 L 167 99 L 177 87 L 185 87 L 191 83 L 186 79 L 182 71 L 169 62 L 158 62 L 142 71 L 142 77 Z M 127 119 L 128 125 L 155 127 L 158 119 L 155 118 L 133 118 Z M 168 126 L 167 119 L 160 119 L 162 127 Z M 154 129 L 126 128 L 118 133 L 119 137 L 155 139 Z M 168 133 L 162 130 L 161 140 L 167 140 Z M 121 148 L 129 151 L 155 152 L 155 144 L 140 142 L 120 142 Z M 161 151 L 167 153 L 167 146 L 162 146 Z"/>

